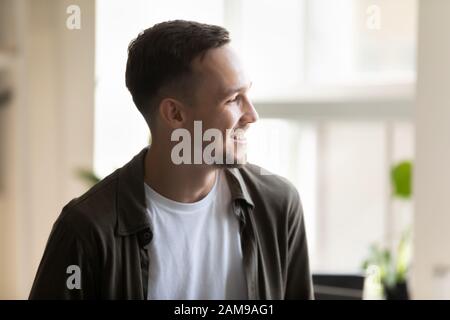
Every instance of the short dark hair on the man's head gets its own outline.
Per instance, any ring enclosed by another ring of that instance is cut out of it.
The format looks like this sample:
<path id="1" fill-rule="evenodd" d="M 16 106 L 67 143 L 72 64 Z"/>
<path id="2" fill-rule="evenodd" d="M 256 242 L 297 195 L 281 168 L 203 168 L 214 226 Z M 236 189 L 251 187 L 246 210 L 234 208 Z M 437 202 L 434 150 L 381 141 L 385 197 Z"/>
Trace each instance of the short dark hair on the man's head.
<path id="1" fill-rule="evenodd" d="M 162 22 L 142 31 L 128 46 L 125 81 L 147 123 L 166 86 L 192 89 L 192 61 L 207 50 L 230 42 L 225 28 L 193 21 Z M 189 94 L 184 92 L 185 94 Z"/>

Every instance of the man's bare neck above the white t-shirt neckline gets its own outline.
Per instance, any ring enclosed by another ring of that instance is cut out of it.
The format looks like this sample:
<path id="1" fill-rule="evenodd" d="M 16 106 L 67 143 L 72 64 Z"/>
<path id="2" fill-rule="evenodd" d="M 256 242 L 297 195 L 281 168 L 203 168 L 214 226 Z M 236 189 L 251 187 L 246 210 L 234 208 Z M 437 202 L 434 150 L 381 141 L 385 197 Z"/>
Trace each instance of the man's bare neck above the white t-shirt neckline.
<path id="1" fill-rule="evenodd" d="M 168 199 L 192 203 L 211 191 L 218 170 L 207 165 L 175 165 L 170 150 L 152 145 L 145 156 L 144 181 Z"/>

